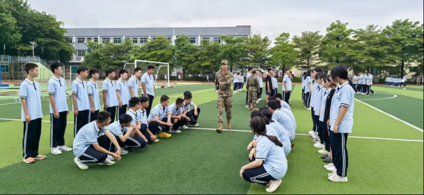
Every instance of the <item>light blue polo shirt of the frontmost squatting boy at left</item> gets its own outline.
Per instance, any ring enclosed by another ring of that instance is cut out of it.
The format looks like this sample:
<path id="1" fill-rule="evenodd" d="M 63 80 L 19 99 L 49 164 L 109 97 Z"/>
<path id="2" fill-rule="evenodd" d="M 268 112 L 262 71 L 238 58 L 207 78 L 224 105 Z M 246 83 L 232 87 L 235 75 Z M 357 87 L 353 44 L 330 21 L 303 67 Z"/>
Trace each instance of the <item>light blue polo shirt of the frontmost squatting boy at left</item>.
<path id="1" fill-rule="evenodd" d="M 77 158 L 81 157 L 90 145 L 97 143 L 97 139 L 102 133 L 108 131 L 105 127 L 100 130 L 99 127 L 97 127 L 96 121 L 97 120 L 94 120 L 82 127 L 75 136 L 73 149 Z"/>

